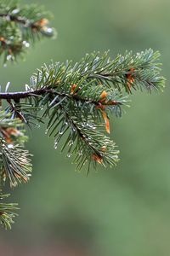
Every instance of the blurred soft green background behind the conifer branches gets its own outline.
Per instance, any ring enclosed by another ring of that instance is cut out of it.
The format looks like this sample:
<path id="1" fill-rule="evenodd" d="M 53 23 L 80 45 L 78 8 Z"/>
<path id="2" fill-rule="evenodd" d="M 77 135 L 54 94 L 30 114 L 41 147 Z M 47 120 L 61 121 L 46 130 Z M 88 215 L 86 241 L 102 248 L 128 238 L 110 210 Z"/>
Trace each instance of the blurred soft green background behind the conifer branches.
<path id="1" fill-rule="evenodd" d="M 32 3 L 33 1 L 21 1 Z M 159 49 L 164 93 L 135 93 L 111 137 L 121 150 L 113 169 L 75 172 L 54 150 L 45 127 L 30 132 L 31 182 L 12 191 L 20 217 L 0 230 L 0 255 L 170 255 L 170 2 L 168 0 L 48 0 L 56 40 L 30 49 L 26 61 L 1 67 L 1 84 L 29 83 L 43 62 L 79 61 L 94 50 L 111 56 L 133 49 Z"/>

